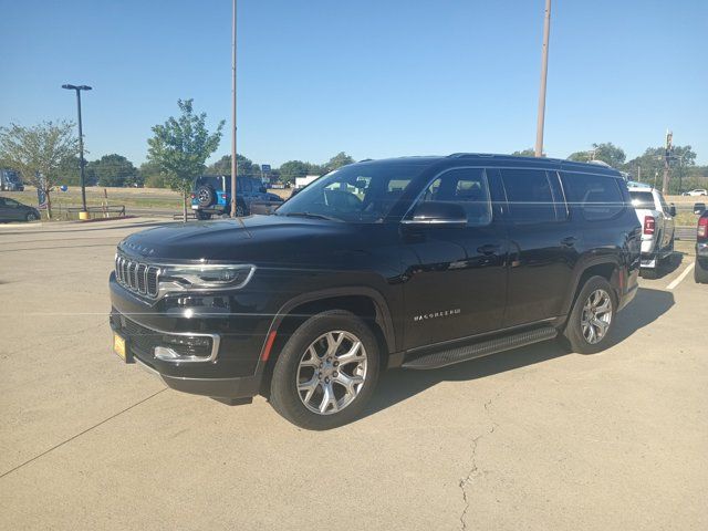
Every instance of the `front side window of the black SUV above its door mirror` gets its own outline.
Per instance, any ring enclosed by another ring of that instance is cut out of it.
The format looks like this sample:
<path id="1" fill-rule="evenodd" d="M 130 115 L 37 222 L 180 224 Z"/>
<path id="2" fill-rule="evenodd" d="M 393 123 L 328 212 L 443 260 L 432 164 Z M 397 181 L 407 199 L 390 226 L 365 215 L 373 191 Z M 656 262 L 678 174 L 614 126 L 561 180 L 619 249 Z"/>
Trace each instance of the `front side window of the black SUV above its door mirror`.
<path id="1" fill-rule="evenodd" d="M 419 202 L 424 201 L 460 205 L 467 212 L 468 227 L 483 227 L 491 223 L 489 183 L 483 168 L 459 168 L 446 171 L 426 188 Z"/>

